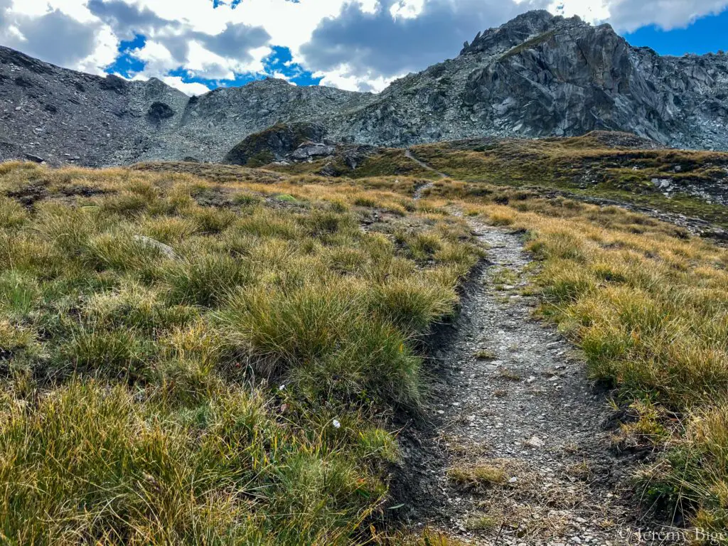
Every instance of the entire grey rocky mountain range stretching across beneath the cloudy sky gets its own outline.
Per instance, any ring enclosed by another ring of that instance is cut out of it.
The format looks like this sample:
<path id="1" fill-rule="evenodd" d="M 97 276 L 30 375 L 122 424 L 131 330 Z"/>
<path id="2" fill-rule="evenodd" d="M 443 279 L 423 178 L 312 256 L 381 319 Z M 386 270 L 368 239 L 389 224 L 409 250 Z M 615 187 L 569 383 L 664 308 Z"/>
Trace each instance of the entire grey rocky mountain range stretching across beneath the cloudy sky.
<path id="1" fill-rule="evenodd" d="M 728 56 L 661 57 L 609 25 L 534 11 L 379 95 L 265 79 L 188 98 L 158 79 L 90 76 L 0 47 L 0 159 L 221 161 L 246 136 L 288 122 L 381 146 L 618 130 L 728 150 Z"/>

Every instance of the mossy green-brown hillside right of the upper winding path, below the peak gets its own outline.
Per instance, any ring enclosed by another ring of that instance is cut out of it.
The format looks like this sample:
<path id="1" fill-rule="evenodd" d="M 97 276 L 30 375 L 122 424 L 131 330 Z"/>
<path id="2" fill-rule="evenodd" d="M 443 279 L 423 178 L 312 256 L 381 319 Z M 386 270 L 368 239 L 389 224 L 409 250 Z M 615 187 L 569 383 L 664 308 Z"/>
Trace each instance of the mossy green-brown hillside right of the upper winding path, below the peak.
<path id="1" fill-rule="evenodd" d="M 728 207 L 689 191 L 725 194 L 728 154 L 634 149 L 619 142 L 605 143 L 600 136 L 460 141 L 414 146 L 412 151 L 435 170 L 461 181 L 563 189 L 576 196 L 616 199 L 728 227 Z M 654 180 L 670 181 L 670 195 Z"/>

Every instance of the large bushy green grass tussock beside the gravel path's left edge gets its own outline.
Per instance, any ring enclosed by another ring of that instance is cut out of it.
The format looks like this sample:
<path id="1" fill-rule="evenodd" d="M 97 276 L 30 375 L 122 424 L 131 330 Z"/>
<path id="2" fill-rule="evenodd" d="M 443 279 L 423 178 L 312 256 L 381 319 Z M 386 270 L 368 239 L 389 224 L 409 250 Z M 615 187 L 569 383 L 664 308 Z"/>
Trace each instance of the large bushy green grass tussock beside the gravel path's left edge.
<path id="1" fill-rule="evenodd" d="M 347 399 L 371 392 L 392 403 L 419 403 L 419 359 L 386 322 L 369 314 L 361 288 L 318 282 L 274 293 L 244 290 L 223 314 L 249 344 L 266 373 L 292 365 L 308 392 L 338 392 Z"/>

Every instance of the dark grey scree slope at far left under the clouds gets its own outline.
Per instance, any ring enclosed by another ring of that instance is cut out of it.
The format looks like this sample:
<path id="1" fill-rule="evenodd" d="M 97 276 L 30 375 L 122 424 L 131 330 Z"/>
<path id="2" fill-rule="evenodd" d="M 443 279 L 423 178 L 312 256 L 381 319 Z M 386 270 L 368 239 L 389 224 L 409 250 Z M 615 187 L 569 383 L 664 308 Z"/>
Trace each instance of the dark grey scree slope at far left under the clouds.
<path id="1" fill-rule="evenodd" d="M 178 126 L 188 100 L 158 79 L 91 76 L 0 47 L 0 159 L 123 164 Z"/>

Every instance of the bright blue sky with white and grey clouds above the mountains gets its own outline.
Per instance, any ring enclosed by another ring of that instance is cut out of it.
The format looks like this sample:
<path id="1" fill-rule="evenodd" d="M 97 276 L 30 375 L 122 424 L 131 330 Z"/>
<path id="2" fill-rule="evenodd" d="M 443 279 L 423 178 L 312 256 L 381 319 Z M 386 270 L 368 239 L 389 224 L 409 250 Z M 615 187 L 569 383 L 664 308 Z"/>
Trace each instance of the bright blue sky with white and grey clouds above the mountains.
<path id="1" fill-rule="evenodd" d="M 663 55 L 728 50 L 728 0 L 0 0 L 0 44 L 190 95 L 266 76 L 376 92 L 528 9 Z"/>

